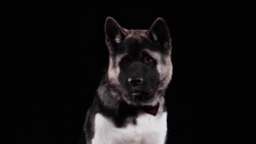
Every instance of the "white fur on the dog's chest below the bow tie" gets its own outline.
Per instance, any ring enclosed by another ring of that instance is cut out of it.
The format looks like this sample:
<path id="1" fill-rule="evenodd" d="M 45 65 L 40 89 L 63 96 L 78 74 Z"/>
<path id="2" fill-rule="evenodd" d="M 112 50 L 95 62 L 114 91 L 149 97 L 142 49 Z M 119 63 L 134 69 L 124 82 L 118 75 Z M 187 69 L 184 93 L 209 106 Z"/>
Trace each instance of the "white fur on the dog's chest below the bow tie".
<path id="1" fill-rule="evenodd" d="M 167 132 L 167 113 L 144 114 L 137 117 L 137 124 L 125 128 L 115 125 L 101 114 L 95 116 L 95 135 L 92 144 L 164 144 Z"/>

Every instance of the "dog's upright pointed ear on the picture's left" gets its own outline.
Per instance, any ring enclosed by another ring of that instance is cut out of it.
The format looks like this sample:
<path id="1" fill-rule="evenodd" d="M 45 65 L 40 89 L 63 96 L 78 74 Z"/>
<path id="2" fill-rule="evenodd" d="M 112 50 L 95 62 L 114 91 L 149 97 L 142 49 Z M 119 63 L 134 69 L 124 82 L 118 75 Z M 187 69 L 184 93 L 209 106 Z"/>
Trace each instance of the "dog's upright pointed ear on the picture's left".
<path id="1" fill-rule="evenodd" d="M 104 30 L 109 51 L 115 51 L 128 35 L 112 17 L 107 17 Z"/>

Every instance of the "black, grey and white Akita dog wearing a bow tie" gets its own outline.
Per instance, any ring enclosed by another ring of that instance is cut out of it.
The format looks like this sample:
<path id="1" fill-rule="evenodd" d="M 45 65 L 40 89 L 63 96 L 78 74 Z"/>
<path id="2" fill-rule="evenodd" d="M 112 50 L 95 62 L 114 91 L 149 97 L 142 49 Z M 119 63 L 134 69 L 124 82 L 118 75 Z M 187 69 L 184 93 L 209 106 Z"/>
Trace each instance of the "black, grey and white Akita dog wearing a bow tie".
<path id="1" fill-rule="evenodd" d="M 171 36 L 157 18 L 149 30 L 105 21 L 109 66 L 88 109 L 87 144 L 164 144 L 165 91 L 172 77 Z"/>

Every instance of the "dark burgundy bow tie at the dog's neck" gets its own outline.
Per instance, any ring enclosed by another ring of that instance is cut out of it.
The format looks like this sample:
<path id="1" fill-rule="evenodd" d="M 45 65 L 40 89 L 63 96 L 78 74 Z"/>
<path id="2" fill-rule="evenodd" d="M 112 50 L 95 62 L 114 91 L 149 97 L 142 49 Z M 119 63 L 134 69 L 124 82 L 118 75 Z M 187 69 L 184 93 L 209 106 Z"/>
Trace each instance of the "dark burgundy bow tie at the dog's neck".
<path id="1" fill-rule="evenodd" d="M 157 103 L 155 106 L 141 106 L 141 107 L 134 107 L 131 106 L 125 102 L 122 102 L 120 104 L 120 111 L 121 112 L 131 112 L 135 109 L 141 108 L 144 112 L 150 114 L 150 115 L 157 115 L 158 109 L 159 109 L 159 103 Z"/>

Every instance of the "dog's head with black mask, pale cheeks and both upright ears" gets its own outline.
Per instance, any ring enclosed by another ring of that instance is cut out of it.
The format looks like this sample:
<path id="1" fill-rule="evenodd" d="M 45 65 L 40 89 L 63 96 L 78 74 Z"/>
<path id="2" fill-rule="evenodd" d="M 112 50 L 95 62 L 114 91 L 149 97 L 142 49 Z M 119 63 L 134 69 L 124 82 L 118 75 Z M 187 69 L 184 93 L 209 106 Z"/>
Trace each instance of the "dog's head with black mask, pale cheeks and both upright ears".
<path id="1" fill-rule="evenodd" d="M 155 105 L 164 96 L 172 76 L 168 25 L 157 18 L 148 30 L 125 29 L 112 17 L 105 21 L 109 50 L 107 79 L 128 104 Z"/>

